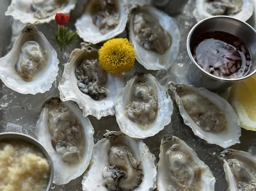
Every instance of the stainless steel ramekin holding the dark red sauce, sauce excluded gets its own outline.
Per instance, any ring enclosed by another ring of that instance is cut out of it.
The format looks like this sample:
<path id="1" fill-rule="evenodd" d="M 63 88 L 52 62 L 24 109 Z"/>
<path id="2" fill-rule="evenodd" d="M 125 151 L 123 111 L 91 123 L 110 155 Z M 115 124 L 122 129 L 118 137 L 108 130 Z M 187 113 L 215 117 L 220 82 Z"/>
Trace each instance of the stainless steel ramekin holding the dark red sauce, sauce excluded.
<path id="1" fill-rule="evenodd" d="M 193 40 L 205 32 L 223 31 L 239 37 L 247 45 L 252 56 L 251 70 L 241 78 L 221 78 L 203 70 L 193 58 L 191 46 Z M 256 73 L 256 31 L 247 23 L 230 16 L 213 16 L 198 22 L 187 37 L 187 50 L 195 69 L 190 72 L 190 82 L 198 87 L 205 87 L 211 91 L 225 91 L 233 83 L 250 78 Z"/>

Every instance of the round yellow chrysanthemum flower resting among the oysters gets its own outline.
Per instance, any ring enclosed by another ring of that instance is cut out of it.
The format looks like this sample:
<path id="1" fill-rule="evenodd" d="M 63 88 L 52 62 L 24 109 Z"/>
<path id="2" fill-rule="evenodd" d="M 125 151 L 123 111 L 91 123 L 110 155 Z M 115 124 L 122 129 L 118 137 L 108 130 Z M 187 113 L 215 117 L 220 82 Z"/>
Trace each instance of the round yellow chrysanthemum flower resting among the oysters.
<path id="1" fill-rule="evenodd" d="M 127 39 L 111 39 L 99 49 L 99 64 L 109 73 L 127 72 L 134 67 L 134 48 Z"/>

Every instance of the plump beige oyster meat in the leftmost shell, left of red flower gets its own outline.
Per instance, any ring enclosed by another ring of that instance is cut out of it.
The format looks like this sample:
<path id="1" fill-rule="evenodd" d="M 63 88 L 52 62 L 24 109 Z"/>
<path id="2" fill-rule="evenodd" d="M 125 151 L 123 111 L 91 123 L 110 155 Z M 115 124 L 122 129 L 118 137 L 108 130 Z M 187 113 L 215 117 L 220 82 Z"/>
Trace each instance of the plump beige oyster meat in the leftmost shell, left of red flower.
<path id="1" fill-rule="evenodd" d="M 43 52 L 37 42 L 26 42 L 21 48 L 20 57 L 16 65 L 20 76 L 26 81 L 31 81 L 33 74 L 45 64 L 45 54 L 46 52 Z"/>

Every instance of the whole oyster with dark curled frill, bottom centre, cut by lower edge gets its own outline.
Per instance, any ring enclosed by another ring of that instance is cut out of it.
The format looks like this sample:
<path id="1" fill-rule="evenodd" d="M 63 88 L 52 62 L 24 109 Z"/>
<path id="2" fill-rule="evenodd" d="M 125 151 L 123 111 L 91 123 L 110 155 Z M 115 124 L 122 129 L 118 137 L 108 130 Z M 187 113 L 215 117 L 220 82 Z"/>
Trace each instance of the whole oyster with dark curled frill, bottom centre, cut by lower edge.
<path id="1" fill-rule="evenodd" d="M 107 131 L 93 148 L 82 181 L 83 191 L 152 191 L 156 188 L 155 156 L 142 140 Z"/>

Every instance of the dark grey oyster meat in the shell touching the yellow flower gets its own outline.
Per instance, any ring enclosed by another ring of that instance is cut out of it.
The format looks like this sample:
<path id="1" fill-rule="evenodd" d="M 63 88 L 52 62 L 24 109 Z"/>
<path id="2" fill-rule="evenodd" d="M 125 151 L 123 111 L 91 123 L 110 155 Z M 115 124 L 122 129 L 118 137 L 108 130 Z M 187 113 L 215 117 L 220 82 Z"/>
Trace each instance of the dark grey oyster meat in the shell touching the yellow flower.
<path id="1" fill-rule="evenodd" d="M 81 62 L 75 71 L 78 87 L 94 100 L 107 97 L 107 74 L 99 65 L 98 59 L 86 59 Z"/>

